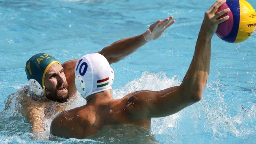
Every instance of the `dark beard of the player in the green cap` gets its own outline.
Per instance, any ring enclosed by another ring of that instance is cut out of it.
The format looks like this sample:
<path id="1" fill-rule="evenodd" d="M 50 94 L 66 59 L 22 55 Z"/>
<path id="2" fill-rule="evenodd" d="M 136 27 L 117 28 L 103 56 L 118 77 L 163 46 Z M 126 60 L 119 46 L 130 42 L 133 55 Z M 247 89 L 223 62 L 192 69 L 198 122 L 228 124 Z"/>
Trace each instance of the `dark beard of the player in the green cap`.
<path id="1" fill-rule="evenodd" d="M 67 92 L 60 91 L 59 88 L 62 87 L 66 87 Z M 67 102 L 69 99 L 69 90 L 67 83 L 62 83 L 61 85 L 58 85 L 55 90 L 51 90 L 50 92 L 46 91 L 46 98 L 59 103 Z"/>

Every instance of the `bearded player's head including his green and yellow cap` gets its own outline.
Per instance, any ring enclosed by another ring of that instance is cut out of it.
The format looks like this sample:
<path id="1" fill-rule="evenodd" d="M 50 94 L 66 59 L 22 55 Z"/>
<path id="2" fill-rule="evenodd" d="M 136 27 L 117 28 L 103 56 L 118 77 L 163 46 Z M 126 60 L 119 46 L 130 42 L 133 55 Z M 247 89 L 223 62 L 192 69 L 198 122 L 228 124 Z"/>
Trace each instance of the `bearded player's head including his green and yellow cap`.
<path id="1" fill-rule="evenodd" d="M 30 89 L 38 96 L 56 102 L 67 102 L 69 92 L 64 68 L 49 54 L 36 54 L 26 63 Z"/>

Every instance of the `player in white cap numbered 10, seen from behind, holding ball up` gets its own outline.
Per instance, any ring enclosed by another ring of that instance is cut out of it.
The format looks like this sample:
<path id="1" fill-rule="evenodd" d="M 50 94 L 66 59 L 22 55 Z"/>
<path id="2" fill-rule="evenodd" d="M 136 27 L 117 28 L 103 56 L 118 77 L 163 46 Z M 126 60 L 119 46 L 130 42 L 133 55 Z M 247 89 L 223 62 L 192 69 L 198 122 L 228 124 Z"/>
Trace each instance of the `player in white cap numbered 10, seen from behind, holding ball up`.
<path id="1" fill-rule="evenodd" d="M 88 138 L 105 126 L 131 124 L 150 129 L 151 118 L 169 116 L 201 100 L 210 72 L 211 38 L 218 24 L 229 18 L 219 18 L 229 9 L 216 13 L 225 2 L 218 0 L 205 13 L 193 59 L 180 86 L 158 92 L 132 92 L 114 100 L 106 56 L 90 54 L 80 58 L 74 68 L 76 85 L 87 104 L 60 113 L 52 121 L 50 133 L 65 138 Z"/>

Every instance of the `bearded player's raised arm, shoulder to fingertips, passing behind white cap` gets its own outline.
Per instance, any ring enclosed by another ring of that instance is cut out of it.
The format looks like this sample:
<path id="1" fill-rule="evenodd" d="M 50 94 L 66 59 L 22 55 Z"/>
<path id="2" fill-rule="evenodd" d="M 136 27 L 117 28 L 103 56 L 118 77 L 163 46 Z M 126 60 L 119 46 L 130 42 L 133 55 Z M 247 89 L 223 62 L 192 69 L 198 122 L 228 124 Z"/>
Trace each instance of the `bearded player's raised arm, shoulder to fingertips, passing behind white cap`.
<path id="1" fill-rule="evenodd" d="M 143 46 L 148 41 L 155 40 L 160 37 L 163 34 L 163 31 L 165 31 L 175 22 L 175 20 L 172 19 L 173 16 L 166 18 L 163 21 L 158 20 L 154 24 L 152 24 L 145 33 L 135 37 L 128 37 L 116 41 L 113 44 L 106 46 L 97 53 L 104 55 L 104 57 L 106 57 L 106 59 L 108 60 L 109 64 L 117 63 L 121 59 L 124 59 L 127 55 L 135 52 L 139 47 Z M 76 94 L 74 68 L 77 61 L 78 59 L 74 59 L 71 61 L 66 61 L 62 64 L 65 76 L 67 78 L 67 83 L 69 85 L 70 96 Z"/>

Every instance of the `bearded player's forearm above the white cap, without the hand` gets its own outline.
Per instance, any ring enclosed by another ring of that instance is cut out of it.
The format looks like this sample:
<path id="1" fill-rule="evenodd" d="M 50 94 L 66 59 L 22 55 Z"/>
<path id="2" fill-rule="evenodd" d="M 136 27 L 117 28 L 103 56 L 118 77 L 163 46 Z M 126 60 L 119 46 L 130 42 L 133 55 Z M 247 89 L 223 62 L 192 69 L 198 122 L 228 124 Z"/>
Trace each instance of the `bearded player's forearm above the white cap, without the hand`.
<path id="1" fill-rule="evenodd" d="M 114 42 L 113 44 L 106 46 L 100 52 L 108 60 L 109 64 L 116 63 L 126 56 L 132 54 L 139 47 L 146 44 L 143 35 L 137 35 L 135 37 L 128 37 Z"/>

